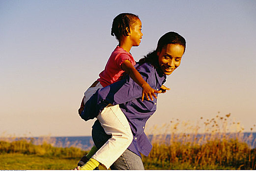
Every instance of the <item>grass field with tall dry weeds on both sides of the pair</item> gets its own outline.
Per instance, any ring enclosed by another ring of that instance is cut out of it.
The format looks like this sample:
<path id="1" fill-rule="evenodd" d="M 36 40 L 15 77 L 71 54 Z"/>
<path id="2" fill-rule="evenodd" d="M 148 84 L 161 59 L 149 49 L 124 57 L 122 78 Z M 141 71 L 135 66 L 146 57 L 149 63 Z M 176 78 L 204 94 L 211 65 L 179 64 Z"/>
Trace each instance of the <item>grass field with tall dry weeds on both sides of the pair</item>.
<path id="1" fill-rule="evenodd" d="M 229 116 L 217 115 L 216 118 L 204 121 L 203 136 L 198 136 L 198 125 L 179 120 L 171 121 L 170 125 L 162 128 L 153 128 L 153 148 L 149 156 L 142 155 L 144 168 L 256 170 L 256 149 L 245 143 L 256 142 L 253 136 L 244 139 L 243 128 L 239 122 L 228 122 Z M 191 133 L 183 133 L 188 130 Z M 86 151 L 76 147 L 54 147 L 45 141 L 41 145 L 34 145 L 32 141 L 1 139 L 0 170 L 72 170 L 86 154 Z"/>

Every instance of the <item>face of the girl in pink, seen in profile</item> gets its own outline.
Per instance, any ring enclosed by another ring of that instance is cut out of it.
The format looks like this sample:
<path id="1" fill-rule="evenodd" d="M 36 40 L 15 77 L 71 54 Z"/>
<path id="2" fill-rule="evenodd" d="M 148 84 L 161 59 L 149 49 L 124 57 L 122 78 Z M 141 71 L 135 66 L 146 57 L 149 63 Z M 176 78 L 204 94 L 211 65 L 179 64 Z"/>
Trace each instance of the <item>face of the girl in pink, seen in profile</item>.
<path id="1" fill-rule="evenodd" d="M 142 39 L 142 21 L 137 18 L 133 26 L 130 27 L 130 39 L 133 46 L 139 46 Z"/>

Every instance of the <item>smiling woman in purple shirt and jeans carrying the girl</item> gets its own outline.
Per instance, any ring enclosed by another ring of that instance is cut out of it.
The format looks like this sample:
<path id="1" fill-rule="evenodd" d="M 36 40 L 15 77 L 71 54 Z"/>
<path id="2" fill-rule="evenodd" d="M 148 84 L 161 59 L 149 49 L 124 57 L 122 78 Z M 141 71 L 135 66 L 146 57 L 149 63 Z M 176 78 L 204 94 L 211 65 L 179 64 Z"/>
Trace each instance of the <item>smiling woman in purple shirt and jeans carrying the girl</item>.
<path id="1" fill-rule="evenodd" d="M 171 75 L 180 65 L 185 47 L 186 41 L 182 36 L 168 32 L 159 39 L 156 50 L 141 59 L 135 67 L 152 88 L 159 90 L 166 81 L 166 75 Z M 129 122 L 133 141 L 110 167 L 112 170 L 143 170 L 140 152 L 147 156 L 152 148 L 144 128 L 146 121 L 156 111 L 157 99 L 142 102 L 141 92 L 142 88 L 130 77 L 126 77 L 97 90 L 85 104 L 85 110 L 81 115 L 85 120 L 93 119 L 99 112 L 102 116 L 105 112 L 123 112 Z M 112 146 L 109 139 L 113 136 L 104 131 L 98 120 L 92 128 L 94 144 L 100 149 L 98 153 L 106 153 L 106 158 L 102 160 L 108 161 L 114 154 L 113 150 L 108 150 L 108 146 Z"/>

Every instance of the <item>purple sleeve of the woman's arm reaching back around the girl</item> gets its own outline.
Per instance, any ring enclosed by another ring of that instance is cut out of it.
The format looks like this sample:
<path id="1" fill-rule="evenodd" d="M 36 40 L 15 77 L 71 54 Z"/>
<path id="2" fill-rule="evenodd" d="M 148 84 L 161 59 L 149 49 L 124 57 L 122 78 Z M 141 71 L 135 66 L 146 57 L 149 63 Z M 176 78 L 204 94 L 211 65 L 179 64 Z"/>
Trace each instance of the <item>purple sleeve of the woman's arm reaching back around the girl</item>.
<path id="1" fill-rule="evenodd" d="M 151 86 L 155 84 L 154 72 L 147 66 L 138 68 L 142 78 Z M 135 83 L 133 79 L 127 76 L 125 79 L 100 88 L 95 94 L 85 103 L 85 109 L 81 117 L 87 121 L 94 119 L 99 112 L 103 110 L 108 104 L 123 104 L 133 99 L 142 97 L 142 87 Z"/>

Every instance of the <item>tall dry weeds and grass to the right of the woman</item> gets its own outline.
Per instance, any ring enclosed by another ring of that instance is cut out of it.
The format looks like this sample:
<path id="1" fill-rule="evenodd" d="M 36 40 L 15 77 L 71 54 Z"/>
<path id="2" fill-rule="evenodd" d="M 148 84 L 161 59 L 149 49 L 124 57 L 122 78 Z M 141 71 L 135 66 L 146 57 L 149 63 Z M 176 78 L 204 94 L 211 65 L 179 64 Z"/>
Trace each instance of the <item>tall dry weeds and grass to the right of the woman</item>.
<path id="1" fill-rule="evenodd" d="M 201 117 L 197 124 L 175 119 L 149 129 L 153 148 L 143 161 L 147 167 L 164 169 L 256 169 L 255 140 L 243 131 L 239 122 L 230 120 L 230 113 Z"/>

